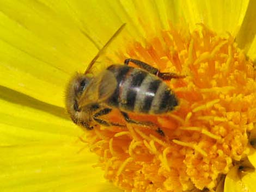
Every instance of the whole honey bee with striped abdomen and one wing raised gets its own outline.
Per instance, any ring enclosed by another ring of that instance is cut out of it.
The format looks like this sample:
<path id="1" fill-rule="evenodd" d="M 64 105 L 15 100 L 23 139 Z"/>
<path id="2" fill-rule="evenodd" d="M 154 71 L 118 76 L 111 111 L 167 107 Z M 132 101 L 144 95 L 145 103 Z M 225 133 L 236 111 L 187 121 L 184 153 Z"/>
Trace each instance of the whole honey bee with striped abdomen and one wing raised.
<path id="1" fill-rule="evenodd" d="M 100 119 L 100 116 L 110 113 L 113 108 L 119 109 L 128 123 L 153 125 L 151 122 L 132 120 L 128 113 L 166 114 L 179 104 L 178 98 L 163 80 L 184 76 L 162 73 L 155 67 L 136 59 L 126 59 L 124 64 L 110 65 L 94 77 L 88 75 L 102 50 L 120 33 L 123 27 L 124 24 L 99 51 L 86 72 L 77 73 L 68 85 L 66 109 L 72 121 L 86 129 L 93 129 L 93 122 L 103 126 L 123 126 Z M 129 63 L 138 67 L 129 66 Z M 156 131 L 164 135 L 160 128 L 156 128 Z"/>

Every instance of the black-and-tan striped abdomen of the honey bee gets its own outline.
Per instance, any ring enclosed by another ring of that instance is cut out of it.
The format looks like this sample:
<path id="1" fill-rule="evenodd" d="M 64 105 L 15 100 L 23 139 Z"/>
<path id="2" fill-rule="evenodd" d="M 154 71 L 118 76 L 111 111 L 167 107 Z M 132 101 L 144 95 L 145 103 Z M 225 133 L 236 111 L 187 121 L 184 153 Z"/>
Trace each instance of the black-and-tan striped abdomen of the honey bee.
<path id="1" fill-rule="evenodd" d="M 178 100 L 168 85 L 155 75 L 127 65 L 111 65 L 118 85 L 107 104 L 126 112 L 163 114 L 174 109 Z"/>

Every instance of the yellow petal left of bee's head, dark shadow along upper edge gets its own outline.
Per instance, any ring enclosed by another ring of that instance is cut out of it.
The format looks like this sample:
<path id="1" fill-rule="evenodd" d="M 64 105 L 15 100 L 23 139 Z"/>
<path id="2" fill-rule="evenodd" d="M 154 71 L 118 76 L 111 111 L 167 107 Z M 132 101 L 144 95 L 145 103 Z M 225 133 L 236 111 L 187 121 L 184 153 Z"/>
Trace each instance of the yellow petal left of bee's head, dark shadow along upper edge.
<path id="1" fill-rule="evenodd" d="M 74 141 L 83 132 L 54 107 L 13 90 L 0 87 L 0 145 Z"/>

